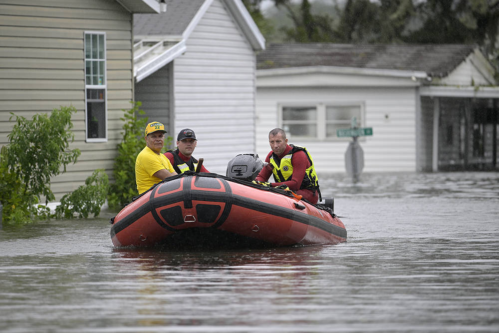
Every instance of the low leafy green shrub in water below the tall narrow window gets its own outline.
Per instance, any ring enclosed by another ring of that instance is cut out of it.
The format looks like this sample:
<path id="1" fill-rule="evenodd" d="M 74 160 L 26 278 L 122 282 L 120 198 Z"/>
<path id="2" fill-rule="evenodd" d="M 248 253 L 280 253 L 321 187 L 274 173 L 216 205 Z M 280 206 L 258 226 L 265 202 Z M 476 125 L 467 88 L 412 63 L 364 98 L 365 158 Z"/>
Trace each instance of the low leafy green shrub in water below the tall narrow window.
<path id="1" fill-rule="evenodd" d="M 108 189 L 109 179 L 104 169 L 95 170 L 85 180 L 85 185 L 62 197 L 60 205 L 55 208 L 55 217 L 71 219 L 78 214 L 79 218 L 87 218 L 89 213 L 98 216 Z"/>

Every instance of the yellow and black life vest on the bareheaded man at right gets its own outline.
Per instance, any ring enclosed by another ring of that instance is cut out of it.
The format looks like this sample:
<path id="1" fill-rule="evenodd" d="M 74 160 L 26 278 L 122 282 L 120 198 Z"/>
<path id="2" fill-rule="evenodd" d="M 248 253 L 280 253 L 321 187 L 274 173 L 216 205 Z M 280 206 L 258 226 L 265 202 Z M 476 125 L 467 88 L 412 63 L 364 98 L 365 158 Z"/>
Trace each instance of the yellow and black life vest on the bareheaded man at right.
<path id="1" fill-rule="evenodd" d="M 291 180 L 293 175 L 293 165 L 291 164 L 291 157 L 297 151 L 303 151 L 310 162 L 310 166 L 305 170 L 305 176 L 301 182 L 300 189 L 307 189 L 315 193 L 317 191 L 320 197 L 319 190 L 319 179 L 317 178 L 317 173 L 315 172 L 315 167 L 313 165 L 313 160 L 305 147 L 290 145 L 292 147 L 291 151 L 283 156 L 280 160 L 272 153 L 270 155 L 270 164 L 272 165 L 272 174 L 276 183 L 282 183 Z M 319 200 L 322 200 L 320 198 Z"/>

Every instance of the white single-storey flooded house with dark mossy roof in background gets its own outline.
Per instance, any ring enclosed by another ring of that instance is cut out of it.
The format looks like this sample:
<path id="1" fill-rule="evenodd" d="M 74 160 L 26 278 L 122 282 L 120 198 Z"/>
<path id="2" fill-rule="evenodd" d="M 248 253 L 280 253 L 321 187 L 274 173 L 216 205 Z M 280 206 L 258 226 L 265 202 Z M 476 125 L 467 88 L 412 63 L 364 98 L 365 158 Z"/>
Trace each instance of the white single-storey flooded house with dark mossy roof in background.
<path id="1" fill-rule="evenodd" d="M 498 168 L 497 73 L 473 45 L 270 44 L 257 56 L 256 151 L 268 131 L 344 172 L 352 117 L 365 172 Z"/>

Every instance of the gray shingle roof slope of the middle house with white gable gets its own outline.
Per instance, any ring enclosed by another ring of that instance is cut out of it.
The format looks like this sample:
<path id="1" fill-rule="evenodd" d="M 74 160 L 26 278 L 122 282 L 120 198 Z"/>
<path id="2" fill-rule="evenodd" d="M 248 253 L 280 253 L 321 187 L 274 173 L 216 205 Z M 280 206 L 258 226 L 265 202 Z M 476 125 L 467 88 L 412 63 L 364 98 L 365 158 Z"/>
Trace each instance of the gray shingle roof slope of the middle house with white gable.
<path id="1" fill-rule="evenodd" d="M 182 35 L 205 0 L 166 0 L 166 12 L 134 14 L 134 35 Z"/>

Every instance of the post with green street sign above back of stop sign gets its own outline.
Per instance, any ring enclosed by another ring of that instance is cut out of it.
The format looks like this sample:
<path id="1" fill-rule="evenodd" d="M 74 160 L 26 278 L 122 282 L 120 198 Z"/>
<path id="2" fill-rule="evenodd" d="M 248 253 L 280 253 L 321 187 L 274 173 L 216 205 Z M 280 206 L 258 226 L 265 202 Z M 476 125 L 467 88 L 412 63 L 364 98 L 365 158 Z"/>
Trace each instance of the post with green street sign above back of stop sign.
<path id="1" fill-rule="evenodd" d="M 357 118 L 352 118 L 351 128 L 340 128 L 336 130 L 337 137 L 352 137 L 345 152 L 345 168 L 349 177 L 354 181 L 359 180 L 359 176 L 364 168 L 364 151 L 357 141 L 359 136 L 373 135 L 372 127 L 358 128 Z"/>

